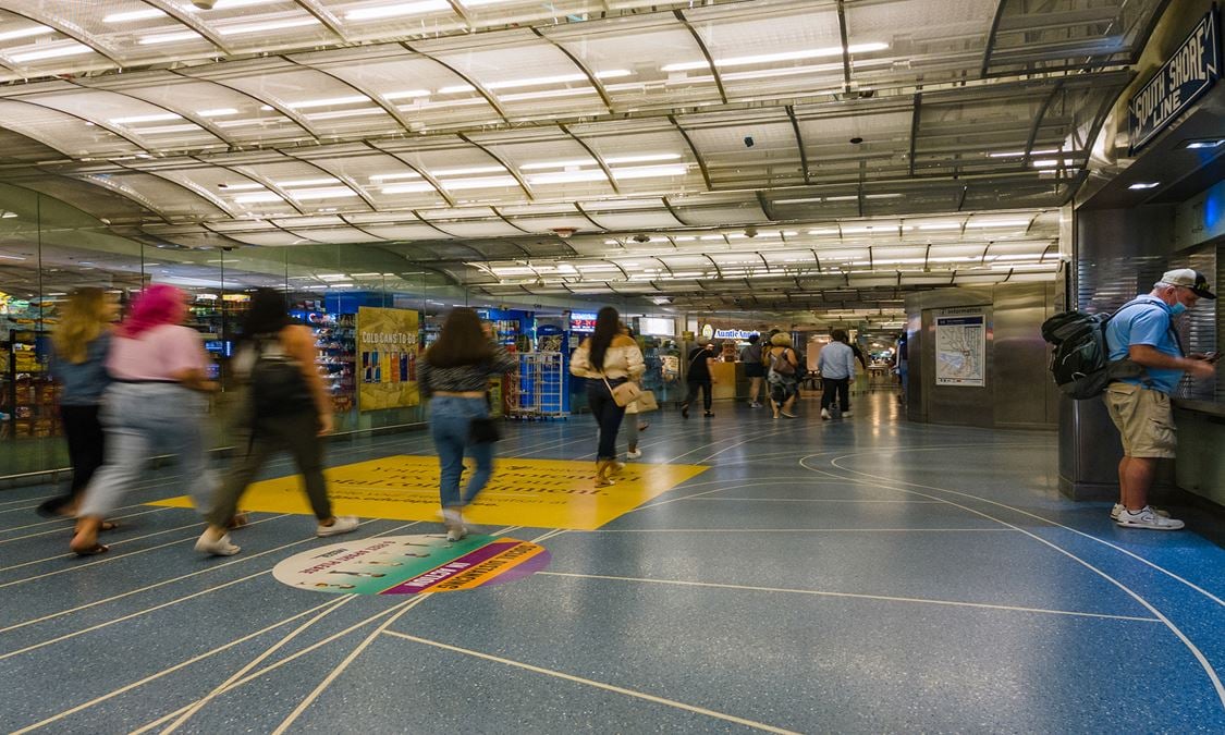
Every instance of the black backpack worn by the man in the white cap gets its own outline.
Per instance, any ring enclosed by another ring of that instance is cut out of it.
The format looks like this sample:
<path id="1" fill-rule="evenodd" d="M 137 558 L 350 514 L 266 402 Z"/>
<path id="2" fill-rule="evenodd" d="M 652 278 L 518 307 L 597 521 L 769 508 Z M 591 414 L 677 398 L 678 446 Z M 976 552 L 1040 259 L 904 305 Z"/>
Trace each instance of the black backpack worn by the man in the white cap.
<path id="1" fill-rule="evenodd" d="M 1132 304 L 1125 304 L 1118 311 Z M 1065 311 L 1042 322 L 1042 339 L 1055 348 L 1051 354 L 1051 377 L 1068 398 L 1093 398 L 1104 393 L 1112 381 L 1147 375 L 1143 366 L 1128 358 L 1110 359 L 1106 325 L 1118 311 Z"/>

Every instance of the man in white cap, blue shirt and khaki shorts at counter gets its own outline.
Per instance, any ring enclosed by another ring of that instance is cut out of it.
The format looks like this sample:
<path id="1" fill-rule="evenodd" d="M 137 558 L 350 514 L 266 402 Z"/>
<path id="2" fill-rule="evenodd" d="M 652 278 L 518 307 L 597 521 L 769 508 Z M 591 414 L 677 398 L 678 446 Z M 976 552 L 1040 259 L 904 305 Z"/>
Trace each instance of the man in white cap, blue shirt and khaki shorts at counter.
<path id="1" fill-rule="evenodd" d="M 1123 528 L 1177 530 L 1182 521 L 1148 505 L 1158 459 L 1175 456 L 1174 412 L 1170 393 L 1183 372 L 1212 377 L 1215 355 L 1185 356 L 1172 320 L 1199 299 L 1215 299 L 1203 273 L 1191 268 L 1167 271 L 1145 295 L 1125 304 L 1106 323 L 1111 360 L 1129 359 L 1144 368 L 1139 377 L 1123 379 L 1106 388 L 1106 408 L 1123 440 L 1118 463 L 1120 501 L 1110 517 Z"/>

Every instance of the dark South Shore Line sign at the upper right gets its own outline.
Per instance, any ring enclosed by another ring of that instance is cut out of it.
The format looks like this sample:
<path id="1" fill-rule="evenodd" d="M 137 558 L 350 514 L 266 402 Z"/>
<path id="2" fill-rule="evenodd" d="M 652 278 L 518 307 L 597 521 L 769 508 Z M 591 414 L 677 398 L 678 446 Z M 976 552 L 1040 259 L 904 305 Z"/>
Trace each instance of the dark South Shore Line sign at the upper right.
<path id="1" fill-rule="evenodd" d="M 1132 154 L 1216 83 L 1220 60 L 1220 18 L 1214 7 L 1127 103 Z"/>

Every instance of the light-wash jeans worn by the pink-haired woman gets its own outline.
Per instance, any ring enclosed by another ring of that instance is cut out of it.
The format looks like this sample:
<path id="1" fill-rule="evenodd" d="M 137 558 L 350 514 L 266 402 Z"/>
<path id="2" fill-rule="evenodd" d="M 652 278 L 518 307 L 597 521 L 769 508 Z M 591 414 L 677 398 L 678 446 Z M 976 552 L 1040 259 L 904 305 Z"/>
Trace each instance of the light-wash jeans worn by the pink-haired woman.
<path id="1" fill-rule="evenodd" d="M 203 393 L 176 383 L 113 383 L 103 394 L 105 459 L 85 491 L 81 516 L 105 516 L 140 478 L 154 451 L 175 456 L 179 478 L 203 514 L 213 503 L 217 478 L 208 469 Z"/>

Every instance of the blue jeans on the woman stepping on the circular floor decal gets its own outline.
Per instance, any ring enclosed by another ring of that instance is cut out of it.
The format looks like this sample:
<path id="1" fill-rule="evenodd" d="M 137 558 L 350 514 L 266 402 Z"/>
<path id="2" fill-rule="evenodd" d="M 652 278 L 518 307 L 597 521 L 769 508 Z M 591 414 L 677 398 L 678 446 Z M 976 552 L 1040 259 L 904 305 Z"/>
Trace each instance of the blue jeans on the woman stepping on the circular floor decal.
<path id="1" fill-rule="evenodd" d="M 472 502 L 494 474 L 494 445 L 468 441 L 472 420 L 488 415 L 489 403 L 484 398 L 435 396 L 430 399 L 430 436 L 439 452 L 439 500 L 445 508 Z M 463 474 L 466 451 L 477 461 L 477 469 L 468 478 L 468 486 L 461 497 L 459 477 Z"/>

